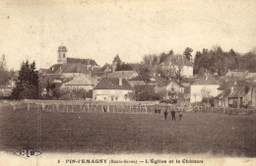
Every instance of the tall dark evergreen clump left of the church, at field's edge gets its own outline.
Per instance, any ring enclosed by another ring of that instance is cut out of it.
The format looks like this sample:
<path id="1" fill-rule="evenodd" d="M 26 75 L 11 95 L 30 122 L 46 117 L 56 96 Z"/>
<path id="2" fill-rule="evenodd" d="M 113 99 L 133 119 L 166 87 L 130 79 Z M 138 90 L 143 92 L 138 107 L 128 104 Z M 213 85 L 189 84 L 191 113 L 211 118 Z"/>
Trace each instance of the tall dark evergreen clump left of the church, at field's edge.
<path id="1" fill-rule="evenodd" d="M 35 63 L 27 60 L 22 63 L 19 76 L 16 81 L 16 87 L 13 89 L 12 98 L 38 98 L 38 74 L 35 71 Z"/>

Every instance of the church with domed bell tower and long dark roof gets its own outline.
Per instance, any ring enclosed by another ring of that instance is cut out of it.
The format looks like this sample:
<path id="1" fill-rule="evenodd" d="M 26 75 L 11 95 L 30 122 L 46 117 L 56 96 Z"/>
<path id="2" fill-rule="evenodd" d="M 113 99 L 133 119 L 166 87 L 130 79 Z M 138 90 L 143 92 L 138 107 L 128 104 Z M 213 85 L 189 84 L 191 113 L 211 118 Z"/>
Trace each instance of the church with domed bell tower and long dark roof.
<path id="1" fill-rule="evenodd" d="M 92 74 L 98 68 L 93 59 L 69 58 L 68 49 L 64 45 L 59 46 L 57 52 L 57 64 L 52 65 L 44 76 L 73 78 L 80 74 Z"/>

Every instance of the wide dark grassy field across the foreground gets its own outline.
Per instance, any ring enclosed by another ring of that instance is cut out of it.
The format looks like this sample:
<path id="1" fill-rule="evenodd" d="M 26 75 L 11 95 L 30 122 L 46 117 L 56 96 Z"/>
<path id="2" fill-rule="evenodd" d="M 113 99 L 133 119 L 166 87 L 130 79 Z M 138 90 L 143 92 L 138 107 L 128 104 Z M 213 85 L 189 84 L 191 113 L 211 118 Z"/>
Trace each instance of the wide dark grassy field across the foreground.
<path id="1" fill-rule="evenodd" d="M 256 156 L 256 117 L 1 111 L 0 149 L 96 153 L 213 153 Z"/>

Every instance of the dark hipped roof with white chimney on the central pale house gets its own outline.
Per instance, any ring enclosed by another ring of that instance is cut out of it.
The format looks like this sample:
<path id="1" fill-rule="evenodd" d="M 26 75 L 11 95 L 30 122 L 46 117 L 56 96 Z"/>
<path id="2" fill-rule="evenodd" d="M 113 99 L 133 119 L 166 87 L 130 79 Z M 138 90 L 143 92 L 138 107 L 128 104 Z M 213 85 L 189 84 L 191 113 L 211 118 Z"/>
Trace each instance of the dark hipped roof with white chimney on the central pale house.
<path id="1" fill-rule="evenodd" d="M 94 89 L 121 89 L 121 90 L 134 90 L 132 85 L 126 80 L 121 79 L 122 85 L 119 85 L 118 78 L 102 78 L 99 83 L 96 84 Z"/>

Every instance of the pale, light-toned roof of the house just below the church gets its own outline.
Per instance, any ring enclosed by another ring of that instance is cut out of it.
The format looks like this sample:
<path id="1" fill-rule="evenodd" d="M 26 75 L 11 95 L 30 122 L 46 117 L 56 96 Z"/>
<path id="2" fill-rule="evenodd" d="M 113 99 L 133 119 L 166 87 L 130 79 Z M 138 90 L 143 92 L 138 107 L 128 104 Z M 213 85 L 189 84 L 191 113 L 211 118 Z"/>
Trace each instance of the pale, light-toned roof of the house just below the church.
<path id="1" fill-rule="evenodd" d="M 89 75 L 80 75 L 75 77 L 70 82 L 64 83 L 64 85 L 93 85 L 95 83 L 96 82 Z"/>

